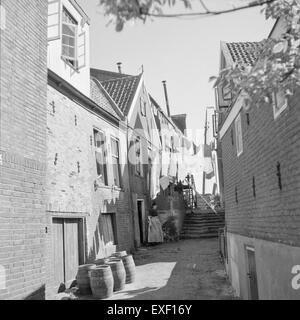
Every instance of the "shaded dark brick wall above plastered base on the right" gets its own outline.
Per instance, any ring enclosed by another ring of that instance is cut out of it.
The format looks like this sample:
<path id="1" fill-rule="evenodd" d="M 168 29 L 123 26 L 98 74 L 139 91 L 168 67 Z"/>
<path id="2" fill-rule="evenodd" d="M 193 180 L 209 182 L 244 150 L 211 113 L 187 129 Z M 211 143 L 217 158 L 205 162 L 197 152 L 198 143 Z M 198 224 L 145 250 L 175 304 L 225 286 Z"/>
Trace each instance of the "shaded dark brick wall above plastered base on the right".
<path id="1" fill-rule="evenodd" d="M 271 105 L 242 111 L 243 153 L 236 155 L 234 123 L 221 140 L 229 232 L 300 245 L 300 93 L 276 120 Z M 247 124 L 246 112 L 250 124 Z M 234 145 L 231 142 L 231 129 Z M 282 189 L 277 163 L 280 163 Z M 255 177 L 256 197 L 253 195 Z M 237 190 L 237 200 L 235 191 Z"/>

